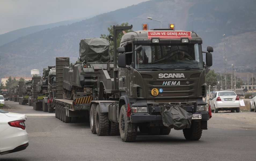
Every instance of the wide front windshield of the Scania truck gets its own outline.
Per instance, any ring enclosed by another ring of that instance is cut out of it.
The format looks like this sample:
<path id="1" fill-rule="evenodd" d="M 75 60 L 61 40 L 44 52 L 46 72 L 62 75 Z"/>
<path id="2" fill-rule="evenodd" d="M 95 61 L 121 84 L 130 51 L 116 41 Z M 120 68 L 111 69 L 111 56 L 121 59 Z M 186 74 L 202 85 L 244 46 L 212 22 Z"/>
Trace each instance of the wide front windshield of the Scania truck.
<path id="1" fill-rule="evenodd" d="M 135 45 L 135 48 L 137 46 Z M 142 48 L 135 51 L 135 68 L 136 69 L 203 68 L 201 45 L 200 44 L 142 45 Z"/>

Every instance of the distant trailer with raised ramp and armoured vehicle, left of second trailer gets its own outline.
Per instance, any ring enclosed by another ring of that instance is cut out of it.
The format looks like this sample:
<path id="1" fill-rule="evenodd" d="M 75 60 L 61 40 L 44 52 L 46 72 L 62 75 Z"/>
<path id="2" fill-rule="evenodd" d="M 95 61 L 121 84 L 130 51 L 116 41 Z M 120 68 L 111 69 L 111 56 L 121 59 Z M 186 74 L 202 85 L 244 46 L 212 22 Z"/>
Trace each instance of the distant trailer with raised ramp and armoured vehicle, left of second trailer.
<path id="1" fill-rule="evenodd" d="M 31 96 L 32 80 L 19 81 L 19 104 L 28 104 L 28 97 Z"/>

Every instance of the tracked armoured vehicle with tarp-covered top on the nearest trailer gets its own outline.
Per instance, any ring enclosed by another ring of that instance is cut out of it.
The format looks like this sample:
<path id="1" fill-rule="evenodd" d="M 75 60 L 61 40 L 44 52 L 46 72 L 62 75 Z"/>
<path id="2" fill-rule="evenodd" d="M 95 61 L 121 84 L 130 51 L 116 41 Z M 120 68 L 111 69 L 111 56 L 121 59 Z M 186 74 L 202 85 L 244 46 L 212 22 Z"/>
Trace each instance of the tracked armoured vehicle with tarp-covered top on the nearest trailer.
<path id="1" fill-rule="evenodd" d="M 98 70 L 107 68 L 109 43 L 103 38 L 86 38 L 79 44 L 80 59 L 75 65 L 63 69 L 63 88 L 66 99 L 74 100 L 77 94 L 92 95 L 97 88 Z"/>

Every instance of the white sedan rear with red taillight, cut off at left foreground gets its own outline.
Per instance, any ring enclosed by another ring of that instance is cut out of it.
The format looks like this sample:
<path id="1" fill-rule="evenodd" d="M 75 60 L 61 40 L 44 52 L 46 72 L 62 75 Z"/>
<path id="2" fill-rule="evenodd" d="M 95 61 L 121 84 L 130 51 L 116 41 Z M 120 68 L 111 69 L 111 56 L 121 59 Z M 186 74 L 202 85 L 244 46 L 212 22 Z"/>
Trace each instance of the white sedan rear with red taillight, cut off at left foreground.
<path id="1" fill-rule="evenodd" d="M 25 114 L 0 109 L 0 155 L 24 150 L 28 147 Z"/>

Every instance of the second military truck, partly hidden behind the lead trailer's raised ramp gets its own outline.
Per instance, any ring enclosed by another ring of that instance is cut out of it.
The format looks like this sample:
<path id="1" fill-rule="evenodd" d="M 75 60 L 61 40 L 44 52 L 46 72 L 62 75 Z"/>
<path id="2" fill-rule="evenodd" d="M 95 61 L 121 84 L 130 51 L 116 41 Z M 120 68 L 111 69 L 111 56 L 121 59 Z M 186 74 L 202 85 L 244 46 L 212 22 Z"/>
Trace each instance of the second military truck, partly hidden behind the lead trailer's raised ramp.
<path id="1" fill-rule="evenodd" d="M 45 92 L 45 97 L 42 100 L 43 112 L 53 112 L 52 99 L 56 95 L 56 68 L 55 66 L 48 66 L 48 68 L 43 69 L 43 80 L 45 80 L 45 85 L 47 85 L 47 91 Z"/>

